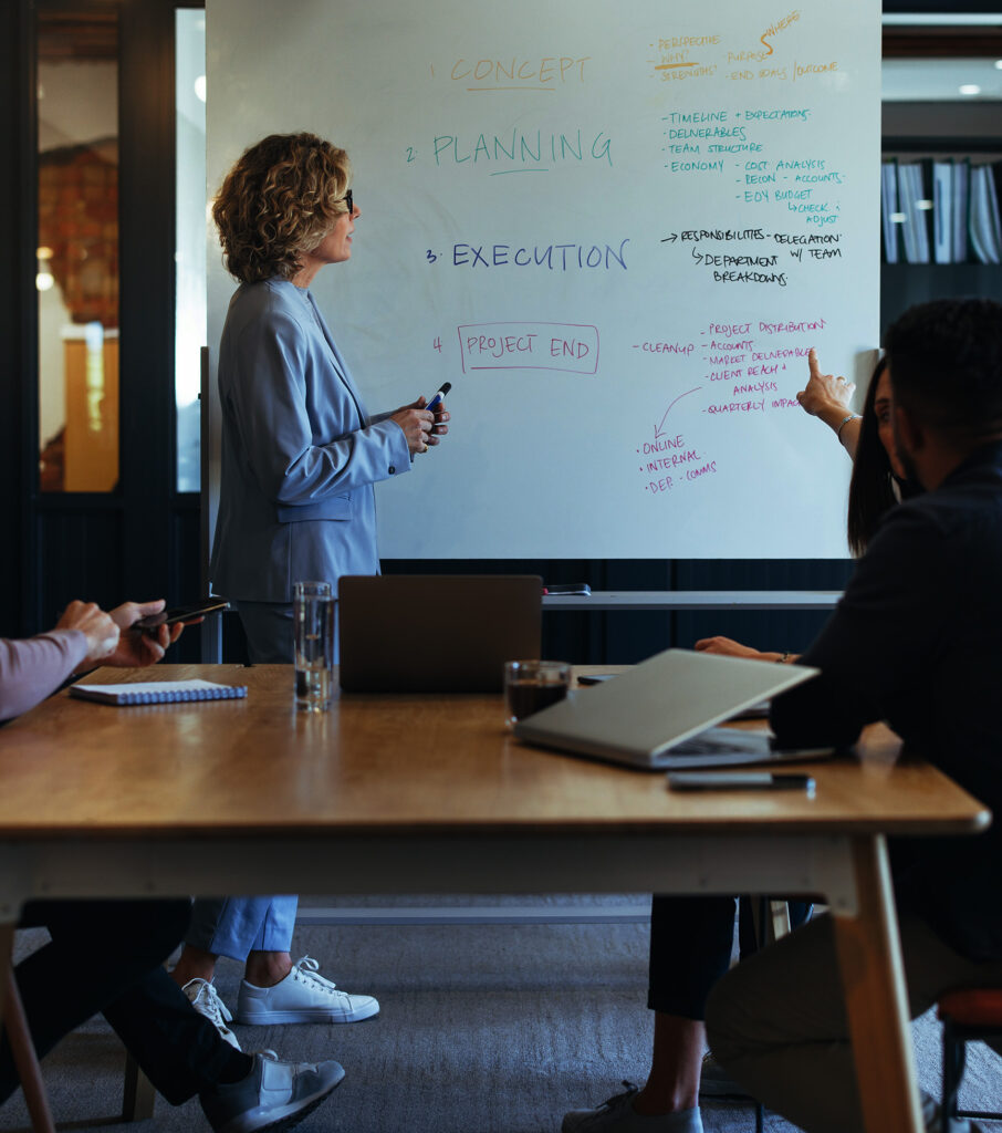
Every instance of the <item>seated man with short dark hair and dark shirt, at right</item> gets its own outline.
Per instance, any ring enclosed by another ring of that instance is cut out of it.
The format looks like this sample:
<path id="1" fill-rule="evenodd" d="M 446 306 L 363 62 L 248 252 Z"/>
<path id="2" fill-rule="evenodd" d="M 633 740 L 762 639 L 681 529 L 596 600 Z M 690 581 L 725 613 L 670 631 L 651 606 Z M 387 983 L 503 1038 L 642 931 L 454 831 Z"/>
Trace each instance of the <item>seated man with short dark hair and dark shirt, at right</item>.
<path id="1" fill-rule="evenodd" d="M 925 493 L 888 513 L 803 657 L 821 675 L 776 700 L 772 726 L 783 747 L 851 743 L 887 719 L 1002 810 L 1002 304 L 915 307 L 885 347 L 898 455 Z M 913 1016 L 950 987 L 1002 981 L 1002 827 L 900 840 L 891 862 Z M 863 1130 L 829 918 L 735 968 L 706 1024 L 769 1108 L 808 1133 Z"/>

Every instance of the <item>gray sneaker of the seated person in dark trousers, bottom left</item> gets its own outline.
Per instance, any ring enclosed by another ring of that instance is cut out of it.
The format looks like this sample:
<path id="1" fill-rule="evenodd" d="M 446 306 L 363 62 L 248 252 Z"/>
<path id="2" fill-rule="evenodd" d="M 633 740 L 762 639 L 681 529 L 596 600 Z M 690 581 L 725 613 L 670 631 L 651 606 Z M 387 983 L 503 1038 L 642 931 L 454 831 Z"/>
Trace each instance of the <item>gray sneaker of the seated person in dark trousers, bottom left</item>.
<path id="1" fill-rule="evenodd" d="M 247 1077 L 205 1090 L 198 1100 L 215 1133 L 279 1133 L 312 1113 L 343 1077 L 336 1062 L 280 1062 L 264 1050 Z"/>

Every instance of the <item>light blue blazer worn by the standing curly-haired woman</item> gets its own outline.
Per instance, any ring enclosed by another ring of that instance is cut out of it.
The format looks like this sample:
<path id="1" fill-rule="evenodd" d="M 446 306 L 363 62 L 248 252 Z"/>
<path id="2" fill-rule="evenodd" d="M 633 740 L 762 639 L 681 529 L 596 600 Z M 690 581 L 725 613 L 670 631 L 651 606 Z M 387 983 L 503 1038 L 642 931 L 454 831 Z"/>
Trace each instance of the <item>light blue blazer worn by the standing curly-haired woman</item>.
<path id="1" fill-rule="evenodd" d="M 410 470 L 403 429 L 369 417 L 309 291 L 241 284 L 220 342 L 222 470 L 211 577 L 239 602 L 377 574 L 376 480 Z"/>

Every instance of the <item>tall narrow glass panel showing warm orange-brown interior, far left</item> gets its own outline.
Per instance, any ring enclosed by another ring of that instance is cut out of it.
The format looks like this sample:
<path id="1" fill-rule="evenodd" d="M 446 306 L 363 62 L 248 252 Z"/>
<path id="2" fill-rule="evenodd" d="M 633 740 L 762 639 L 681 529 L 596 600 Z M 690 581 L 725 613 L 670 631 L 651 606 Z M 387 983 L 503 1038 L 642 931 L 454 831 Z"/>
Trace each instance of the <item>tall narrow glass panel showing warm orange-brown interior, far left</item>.
<path id="1" fill-rule="evenodd" d="M 118 484 L 121 3 L 37 9 L 38 487 Z"/>

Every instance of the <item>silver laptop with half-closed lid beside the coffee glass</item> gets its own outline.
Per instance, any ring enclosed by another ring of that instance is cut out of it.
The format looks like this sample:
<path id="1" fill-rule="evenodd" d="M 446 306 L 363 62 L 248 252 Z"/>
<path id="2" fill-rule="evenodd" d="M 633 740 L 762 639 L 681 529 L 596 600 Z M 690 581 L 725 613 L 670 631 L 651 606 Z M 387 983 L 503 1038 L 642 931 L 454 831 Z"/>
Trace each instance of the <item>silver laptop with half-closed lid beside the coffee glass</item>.
<path id="1" fill-rule="evenodd" d="M 520 740 L 646 770 L 820 759 L 834 749 L 774 750 L 765 732 L 713 727 L 819 670 L 666 649 L 515 724 Z"/>

